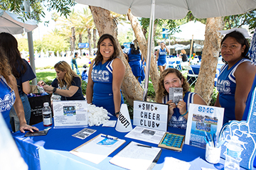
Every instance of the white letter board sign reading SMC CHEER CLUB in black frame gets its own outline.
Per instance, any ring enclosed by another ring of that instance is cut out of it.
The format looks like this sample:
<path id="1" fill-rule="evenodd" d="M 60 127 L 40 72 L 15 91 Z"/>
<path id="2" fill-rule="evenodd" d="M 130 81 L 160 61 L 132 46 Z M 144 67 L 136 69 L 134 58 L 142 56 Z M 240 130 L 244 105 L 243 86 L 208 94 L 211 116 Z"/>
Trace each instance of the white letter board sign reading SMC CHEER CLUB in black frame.
<path id="1" fill-rule="evenodd" d="M 134 101 L 134 125 L 166 131 L 167 121 L 167 104 Z"/>

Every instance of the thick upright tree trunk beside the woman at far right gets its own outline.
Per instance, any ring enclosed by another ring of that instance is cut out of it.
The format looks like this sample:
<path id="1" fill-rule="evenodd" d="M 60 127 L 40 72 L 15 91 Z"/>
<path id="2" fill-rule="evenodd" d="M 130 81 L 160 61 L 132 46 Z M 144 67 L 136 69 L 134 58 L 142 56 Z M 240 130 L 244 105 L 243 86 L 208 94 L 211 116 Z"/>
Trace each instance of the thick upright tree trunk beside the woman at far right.
<path id="1" fill-rule="evenodd" d="M 195 92 L 207 104 L 210 103 L 213 94 L 214 78 L 220 51 L 220 33 L 218 30 L 223 30 L 223 28 L 223 18 L 207 18 L 201 67 L 195 87 Z"/>

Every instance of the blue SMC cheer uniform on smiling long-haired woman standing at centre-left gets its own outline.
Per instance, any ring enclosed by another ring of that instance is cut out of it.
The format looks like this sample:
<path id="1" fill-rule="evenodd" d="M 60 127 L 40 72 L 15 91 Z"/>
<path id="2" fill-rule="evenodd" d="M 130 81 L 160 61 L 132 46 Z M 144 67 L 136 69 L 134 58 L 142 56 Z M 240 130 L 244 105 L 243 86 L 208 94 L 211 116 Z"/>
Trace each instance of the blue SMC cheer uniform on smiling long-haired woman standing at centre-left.
<path id="1" fill-rule="evenodd" d="M 112 115 L 115 113 L 112 90 L 113 62 L 114 60 L 107 61 L 104 64 L 102 64 L 102 62 L 99 62 L 97 65 L 94 63 L 91 74 L 93 81 L 92 104 L 97 107 L 105 108 Z M 121 104 L 122 103 L 124 103 L 124 98 L 121 94 Z"/>

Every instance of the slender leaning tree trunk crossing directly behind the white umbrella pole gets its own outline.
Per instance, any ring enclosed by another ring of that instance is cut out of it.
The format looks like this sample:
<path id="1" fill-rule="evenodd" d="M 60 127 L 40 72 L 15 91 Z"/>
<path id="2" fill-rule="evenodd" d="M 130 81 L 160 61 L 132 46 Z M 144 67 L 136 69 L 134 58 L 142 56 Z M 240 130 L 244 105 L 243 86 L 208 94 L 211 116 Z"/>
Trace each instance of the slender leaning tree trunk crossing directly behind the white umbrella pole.
<path id="1" fill-rule="evenodd" d="M 142 50 L 142 55 L 146 61 L 147 42 L 146 42 L 146 38 L 143 34 L 142 27 L 139 25 L 139 21 L 138 21 L 137 17 L 132 15 L 130 9 L 128 10 L 127 16 L 128 16 L 129 21 L 131 22 L 132 29 L 134 30 L 134 33 L 135 33 L 135 37 L 136 37 L 137 41 L 139 42 L 139 49 Z M 156 62 L 154 60 L 154 52 L 151 52 L 151 62 L 150 62 L 149 74 L 150 74 L 151 82 L 154 86 L 154 90 L 156 91 L 157 83 L 159 81 L 160 76 L 159 76 L 159 72 L 158 72 L 158 69 L 156 66 Z"/>

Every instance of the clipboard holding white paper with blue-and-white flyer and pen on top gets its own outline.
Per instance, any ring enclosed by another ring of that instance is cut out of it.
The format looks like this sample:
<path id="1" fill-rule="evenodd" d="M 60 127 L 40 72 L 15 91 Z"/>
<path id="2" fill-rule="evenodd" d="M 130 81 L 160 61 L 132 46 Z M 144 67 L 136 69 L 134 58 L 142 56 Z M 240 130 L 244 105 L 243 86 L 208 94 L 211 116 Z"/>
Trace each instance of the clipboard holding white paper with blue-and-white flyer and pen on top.
<path id="1" fill-rule="evenodd" d="M 125 140 L 110 135 L 100 134 L 71 150 L 70 153 L 82 159 L 99 164 L 107 158 L 118 147 L 123 145 Z"/>

